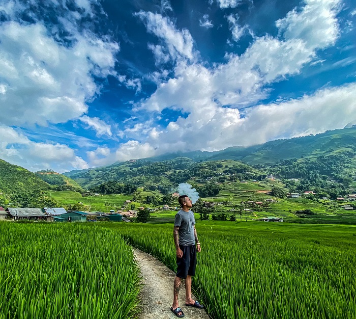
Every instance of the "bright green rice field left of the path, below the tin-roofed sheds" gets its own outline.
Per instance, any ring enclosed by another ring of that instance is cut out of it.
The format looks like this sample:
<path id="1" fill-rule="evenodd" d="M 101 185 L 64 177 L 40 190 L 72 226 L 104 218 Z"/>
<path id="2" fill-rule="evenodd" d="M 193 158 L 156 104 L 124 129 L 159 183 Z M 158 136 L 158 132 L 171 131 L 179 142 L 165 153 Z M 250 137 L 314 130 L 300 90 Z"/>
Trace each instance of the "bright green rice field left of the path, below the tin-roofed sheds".
<path id="1" fill-rule="evenodd" d="M 132 249 L 95 226 L 0 222 L 0 319 L 136 317 Z"/>

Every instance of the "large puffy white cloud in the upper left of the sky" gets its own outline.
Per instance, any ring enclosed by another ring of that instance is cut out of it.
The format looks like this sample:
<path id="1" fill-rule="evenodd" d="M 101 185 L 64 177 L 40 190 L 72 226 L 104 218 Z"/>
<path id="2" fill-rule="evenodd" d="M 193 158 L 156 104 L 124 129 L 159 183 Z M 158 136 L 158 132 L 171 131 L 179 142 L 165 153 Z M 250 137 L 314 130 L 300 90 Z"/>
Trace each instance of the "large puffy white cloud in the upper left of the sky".
<path id="1" fill-rule="evenodd" d="M 91 73 L 113 74 L 118 45 L 93 34 L 76 34 L 66 47 L 44 25 L 0 24 L 0 122 L 9 125 L 64 123 L 87 111 L 99 92 Z"/>

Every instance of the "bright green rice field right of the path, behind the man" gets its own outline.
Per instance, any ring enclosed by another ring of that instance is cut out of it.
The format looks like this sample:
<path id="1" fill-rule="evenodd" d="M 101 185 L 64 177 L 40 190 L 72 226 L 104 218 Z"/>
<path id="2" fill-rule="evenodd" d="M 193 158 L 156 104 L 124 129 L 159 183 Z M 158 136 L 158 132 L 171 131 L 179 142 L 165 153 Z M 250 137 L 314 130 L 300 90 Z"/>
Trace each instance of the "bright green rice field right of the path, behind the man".
<path id="1" fill-rule="evenodd" d="M 243 224 L 197 224 L 193 288 L 214 319 L 356 318 L 355 227 Z M 175 270 L 172 225 L 105 227 Z"/>

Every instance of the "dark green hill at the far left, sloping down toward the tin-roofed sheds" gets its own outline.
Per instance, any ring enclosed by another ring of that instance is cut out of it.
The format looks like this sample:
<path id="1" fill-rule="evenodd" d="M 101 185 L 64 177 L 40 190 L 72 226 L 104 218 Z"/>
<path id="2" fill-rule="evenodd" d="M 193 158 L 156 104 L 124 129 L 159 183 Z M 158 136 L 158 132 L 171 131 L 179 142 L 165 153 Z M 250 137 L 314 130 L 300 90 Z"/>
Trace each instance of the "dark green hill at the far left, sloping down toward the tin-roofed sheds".
<path id="1" fill-rule="evenodd" d="M 12 165 L 0 159 L 0 192 L 8 196 L 48 190 L 49 185 L 23 167 Z"/>

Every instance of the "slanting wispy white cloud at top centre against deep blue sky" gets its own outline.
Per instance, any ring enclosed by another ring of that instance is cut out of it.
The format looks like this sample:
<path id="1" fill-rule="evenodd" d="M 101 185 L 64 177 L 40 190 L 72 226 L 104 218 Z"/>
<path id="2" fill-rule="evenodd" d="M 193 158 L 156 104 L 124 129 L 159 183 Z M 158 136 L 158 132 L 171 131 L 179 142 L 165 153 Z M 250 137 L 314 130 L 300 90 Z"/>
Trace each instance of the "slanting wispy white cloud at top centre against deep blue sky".
<path id="1" fill-rule="evenodd" d="M 178 58 L 192 60 L 194 58 L 193 38 L 187 29 L 177 30 L 168 17 L 163 17 L 159 13 L 141 10 L 135 15 L 145 23 L 148 32 L 164 41 L 165 49 L 172 60 Z M 158 61 L 161 59 L 162 49 L 163 46 L 154 49 L 155 54 L 156 51 L 158 52 L 158 57 L 156 56 Z"/>

